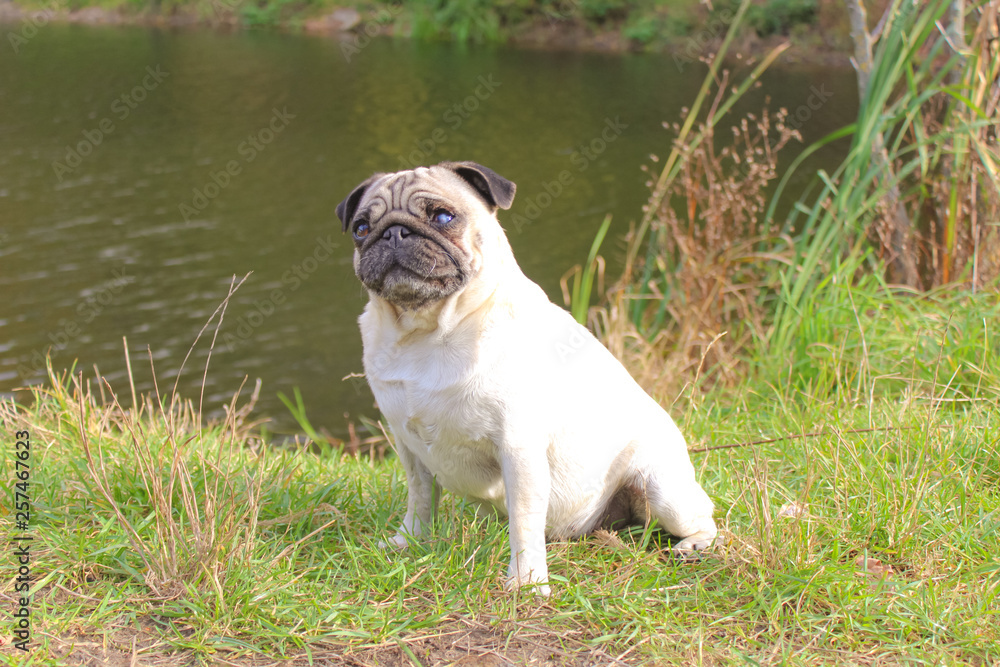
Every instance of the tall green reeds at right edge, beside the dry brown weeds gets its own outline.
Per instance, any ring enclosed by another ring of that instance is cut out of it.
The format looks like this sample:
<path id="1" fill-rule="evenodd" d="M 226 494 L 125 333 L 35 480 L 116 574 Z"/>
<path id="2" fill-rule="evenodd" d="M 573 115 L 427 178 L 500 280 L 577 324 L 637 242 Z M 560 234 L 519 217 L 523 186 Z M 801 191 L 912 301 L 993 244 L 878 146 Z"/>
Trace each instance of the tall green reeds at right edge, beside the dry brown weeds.
<path id="1" fill-rule="evenodd" d="M 1000 153 L 995 140 L 989 141 L 1000 123 L 998 62 L 995 54 L 990 58 L 986 53 L 992 48 L 987 39 L 995 31 L 1000 1 L 973 8 L 979 22 L 971 52 L 959 50 L 941 23 L 948 4 L 895 0 L 888 8 L 858 119 L 848 128 L 850 152 L 833 174 L 817 174 L 819 194 L 800 202 L 783 223 L 786 230 L 801 232 L 795 270 L 783 280 L 774 344 L 789 342 L 804 300 L 838 259 L 850 258 L 838 265 L 849 280 L 863 264 L 885 272 L 896 253 L 912 253 L 909 262 L 921 267 L 923 275 L 904 286 L 915 289 L 964 274 L 975 290 L 1000 275 L 994 261 L 983 261 L 983 250 L 997 247 L 1000 234 L 983 224 L 984 218 L 1000 214 Z M 965 18 L 954 19 L 960 32 Z M 947 105 L 943 111 L 942 104 Z M 875 154 L 883 145 L 884 160 Z M 894 229 L 899 221 L 888 210 L 893 188 L 901 191 L 907 218 L 908 228 L 902 230 L 907 239 L 901 246 L 892 239 L 899 231 Z M 947 212 L 937 215 L 935 210 Z M 958 224 L 960 210 L 966 214 L 964 230 Z M 949 222 L 942 229 L 938 219 Z M 872 252 L 865 255 L 866 250 Z M 886 275 L 890 282 L 904 277 L 893 270 Z"/>

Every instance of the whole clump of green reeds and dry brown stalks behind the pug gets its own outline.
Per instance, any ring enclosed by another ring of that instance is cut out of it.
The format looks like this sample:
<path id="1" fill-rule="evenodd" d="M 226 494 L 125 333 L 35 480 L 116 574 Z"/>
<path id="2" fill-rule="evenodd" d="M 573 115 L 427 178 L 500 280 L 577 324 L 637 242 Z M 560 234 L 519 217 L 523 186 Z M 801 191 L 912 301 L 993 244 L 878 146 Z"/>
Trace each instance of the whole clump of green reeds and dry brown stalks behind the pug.
<path id="1" fill-rule="evenodd" d="M 860 288 L 867 304 L 882 294 L 918 322 L 937 308 L 931 302 L 953 303 L 951 290 L 992 290 L 1000 278 L 1000 0 L 963 15 L 946 0 L 893 0 L 877 35 L 862 23 L 865 48 L 874 46 L 859 51 L 870 58 L 858 56 L 857 120 L 807 147 L 769 201 L 773 153 L 794 138 L 781 111 L 736 121 L 733 146 L 713 147 L 732 105 L 783 50 L 727 90 L 721 59 L 747 4 L 691 111 L 673 125 L 672 149 L 627 237 L 622 279 L 589 316 L 661 395 L 679 389 L 677 377 L 728 383 L 747 361 L 795 375 L 814 361 L 800 343 L 820 344 L 817 313 L 832 322 L 842 311 L 860 327 L 878 312 L 856 312 L 845 286 Z M 804 161 L 845 138 L 843 163 L 817 172 L 793 206 L 779 205 Z M 931 291 L 907 303 L 894 296 L 901 288 Z"/>

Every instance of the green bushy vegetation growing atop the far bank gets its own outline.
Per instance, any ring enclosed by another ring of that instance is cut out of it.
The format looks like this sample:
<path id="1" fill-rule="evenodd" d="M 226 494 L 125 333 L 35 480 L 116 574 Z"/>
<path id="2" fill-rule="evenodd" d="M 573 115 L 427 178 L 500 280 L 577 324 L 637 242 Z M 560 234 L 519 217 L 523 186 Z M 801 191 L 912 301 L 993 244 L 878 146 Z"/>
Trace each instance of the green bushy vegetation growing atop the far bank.
<path id="1" fill-rule="evenodd" d="M 15 0 L 29 9 L 44 0 Z M 335 8 L 352 7 L 362 23 L 416 39 L 503 42 L 537 28 L 620 34 L 639 46 L 670 46 L 706 25 L 727 21 L 736 0 L 711 8 L 699 0 L 68 0 L 69 10 L 116 9 L 126 15 L 193 14 L 209 23 L 248 28 L 296 27 Z M 383 20 L 384 17 L 390 17 Z M 760 36 L 790 34 L 796 26 L 816 28 L 816 0 L 760 0 L 746 30 Z"/>

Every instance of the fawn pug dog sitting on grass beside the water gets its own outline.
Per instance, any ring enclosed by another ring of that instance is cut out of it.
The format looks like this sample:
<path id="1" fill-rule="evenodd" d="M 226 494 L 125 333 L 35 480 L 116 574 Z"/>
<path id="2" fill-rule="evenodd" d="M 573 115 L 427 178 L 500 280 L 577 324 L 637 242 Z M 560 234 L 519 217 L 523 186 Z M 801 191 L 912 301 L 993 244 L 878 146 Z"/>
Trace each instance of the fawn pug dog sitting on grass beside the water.
<path id="1" fill-rule="evenodd" d="M 496 216 L 514 191 L 442 162 L 375 174 L 337 216 L 370 297 L 365 376 L 406 471 L 386 546 L 419 537 L 444 488 L 506 515 L 507 587 L 548 595 L 546 539 L 655 520 L 689 553 L 716 527 L 670 416 L 521 272 Z"/>

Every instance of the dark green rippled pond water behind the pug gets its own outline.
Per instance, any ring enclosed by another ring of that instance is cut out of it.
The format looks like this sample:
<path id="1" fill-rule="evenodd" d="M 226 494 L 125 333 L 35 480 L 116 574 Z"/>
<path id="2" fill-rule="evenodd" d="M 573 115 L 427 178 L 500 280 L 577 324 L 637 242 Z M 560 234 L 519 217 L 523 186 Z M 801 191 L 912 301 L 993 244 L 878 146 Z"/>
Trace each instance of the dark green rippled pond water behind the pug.
<path id="1" fill-rule="evenodd" d="M 560 276 L 606 213 L 604 254 L 619 254 L 647 195 L 640 166 L 667 154 L 662 122 L 703 74 L 670 56 L 392 40 L 348 61 L 335 40 L 253 32 L 48 25 L 17 53 L 5 38 L 0 392 L 42 382 L 50 350 L 57 368 L 92 377 L 96 364 L 127 393 L 123 337 L 137 389 L 152 388 L 148 347 L 163 390 L 232 276 L 252 271 L 216 341 L 206 411 L 261 378 L 258 413 L 278 430 L 294 423 L 277 393 L 299 387 L 313 422 L 342 433 L 345 414 L 375 412 L 363 381 L 342 380 L 361 371 L 365 295 L 334 207 L 354 185 L 440 160 L 495 169 L 518 184 L 501 219 L 521 266 L 561 302 Z M 843 69 L 772 70 L 741 113 L 765 96 L 800 110 L 807 142 L 857 104 Z M 516 229 L 514 215 L 535 220 Z M 207 342 L 180 381 L 194 398 Z"/>

